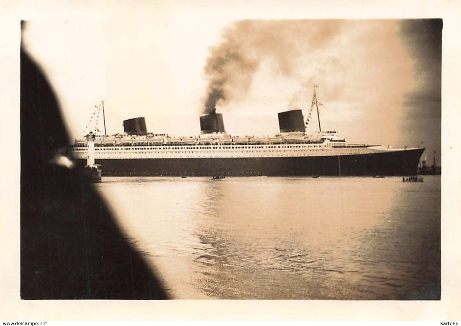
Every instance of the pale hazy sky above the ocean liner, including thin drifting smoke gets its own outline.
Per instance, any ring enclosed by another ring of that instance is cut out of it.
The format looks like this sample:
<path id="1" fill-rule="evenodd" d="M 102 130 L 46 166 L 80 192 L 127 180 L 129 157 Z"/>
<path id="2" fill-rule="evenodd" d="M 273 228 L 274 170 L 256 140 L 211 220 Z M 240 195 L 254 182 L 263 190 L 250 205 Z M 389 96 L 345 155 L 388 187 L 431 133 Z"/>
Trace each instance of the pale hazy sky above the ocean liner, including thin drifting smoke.
<path id="1" fill-rule="evenodd" d="M 288 108 L 307 115 L 315 82 L 324 129 L 353 142 L 423 142 L 430 159 L 440 153 L 441 20 L 240 18 L 222 19 L 210 8 L 117 6 L 67 21 L 30 21 L 23 41 L 76 138 L 101 98 L 109 134 L 136 116 L 154 133 L 198 134 L 207 64 L 233 51 L 249 68 L 225 68 L 233 75 L 217 111 L 230 134 L 275 134 L 277 113 Z"/>

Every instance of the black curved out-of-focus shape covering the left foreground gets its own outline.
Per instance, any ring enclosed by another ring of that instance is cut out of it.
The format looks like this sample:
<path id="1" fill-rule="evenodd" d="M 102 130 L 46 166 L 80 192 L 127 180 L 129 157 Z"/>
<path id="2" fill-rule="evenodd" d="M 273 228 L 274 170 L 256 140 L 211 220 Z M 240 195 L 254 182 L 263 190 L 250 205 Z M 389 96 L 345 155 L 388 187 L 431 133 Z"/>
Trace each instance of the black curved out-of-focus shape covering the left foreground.
<path id="1" fill-rule="evenodd" d="M 167 299 L 82 169 L 65 166 L 56 97 L 22 47 L 20 119 L 21 298 Z"/>

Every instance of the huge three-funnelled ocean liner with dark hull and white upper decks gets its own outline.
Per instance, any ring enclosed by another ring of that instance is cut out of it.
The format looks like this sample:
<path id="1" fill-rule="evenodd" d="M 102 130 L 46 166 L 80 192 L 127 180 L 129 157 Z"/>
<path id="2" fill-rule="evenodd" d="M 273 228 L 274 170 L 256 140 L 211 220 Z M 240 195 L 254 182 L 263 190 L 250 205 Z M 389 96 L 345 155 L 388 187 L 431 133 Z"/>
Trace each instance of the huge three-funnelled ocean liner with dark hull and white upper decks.
<path id="1" fill-rule="evenodd" d="M 313 108 L 319 131 L 308 134 Z M 103 176 L 375 176 L 415 175 L 424 151 L 351 144 L 322 131 L 315 88 L 306 121 L 298 109 L 278 113 L 278 122 L 273 136 L 232 136 L 213 112 L 200 117 L 200 135 L 173 137 L 149 133 L 138 117 L 124 121 L 124 134 L 89 132 L 71 152 L 81 165 L 100 165 Z"/>

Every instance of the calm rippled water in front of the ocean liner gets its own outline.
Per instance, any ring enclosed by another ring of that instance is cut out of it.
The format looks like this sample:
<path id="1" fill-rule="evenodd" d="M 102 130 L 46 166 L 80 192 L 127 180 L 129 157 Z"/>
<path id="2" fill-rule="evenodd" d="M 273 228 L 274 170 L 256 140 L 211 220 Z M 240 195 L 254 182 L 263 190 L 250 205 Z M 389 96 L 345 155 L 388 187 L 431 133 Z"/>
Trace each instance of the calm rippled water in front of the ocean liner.
<path id="1" fill-rule="evenodd" d="M 175 298 L 437 299 L 440 176 L 105 177 Z"/>

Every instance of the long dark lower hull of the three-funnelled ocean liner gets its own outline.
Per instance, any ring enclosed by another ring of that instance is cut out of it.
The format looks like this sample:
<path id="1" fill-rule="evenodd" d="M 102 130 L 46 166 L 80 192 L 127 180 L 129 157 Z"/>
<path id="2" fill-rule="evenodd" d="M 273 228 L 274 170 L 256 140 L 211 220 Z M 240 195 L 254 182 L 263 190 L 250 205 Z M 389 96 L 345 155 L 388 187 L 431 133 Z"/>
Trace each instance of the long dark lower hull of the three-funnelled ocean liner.
<path id="1" fill-rule="evenodd" d="M 415 175 L 424 149 L 321 157 L 96 159 L 103 176 Z"/>

